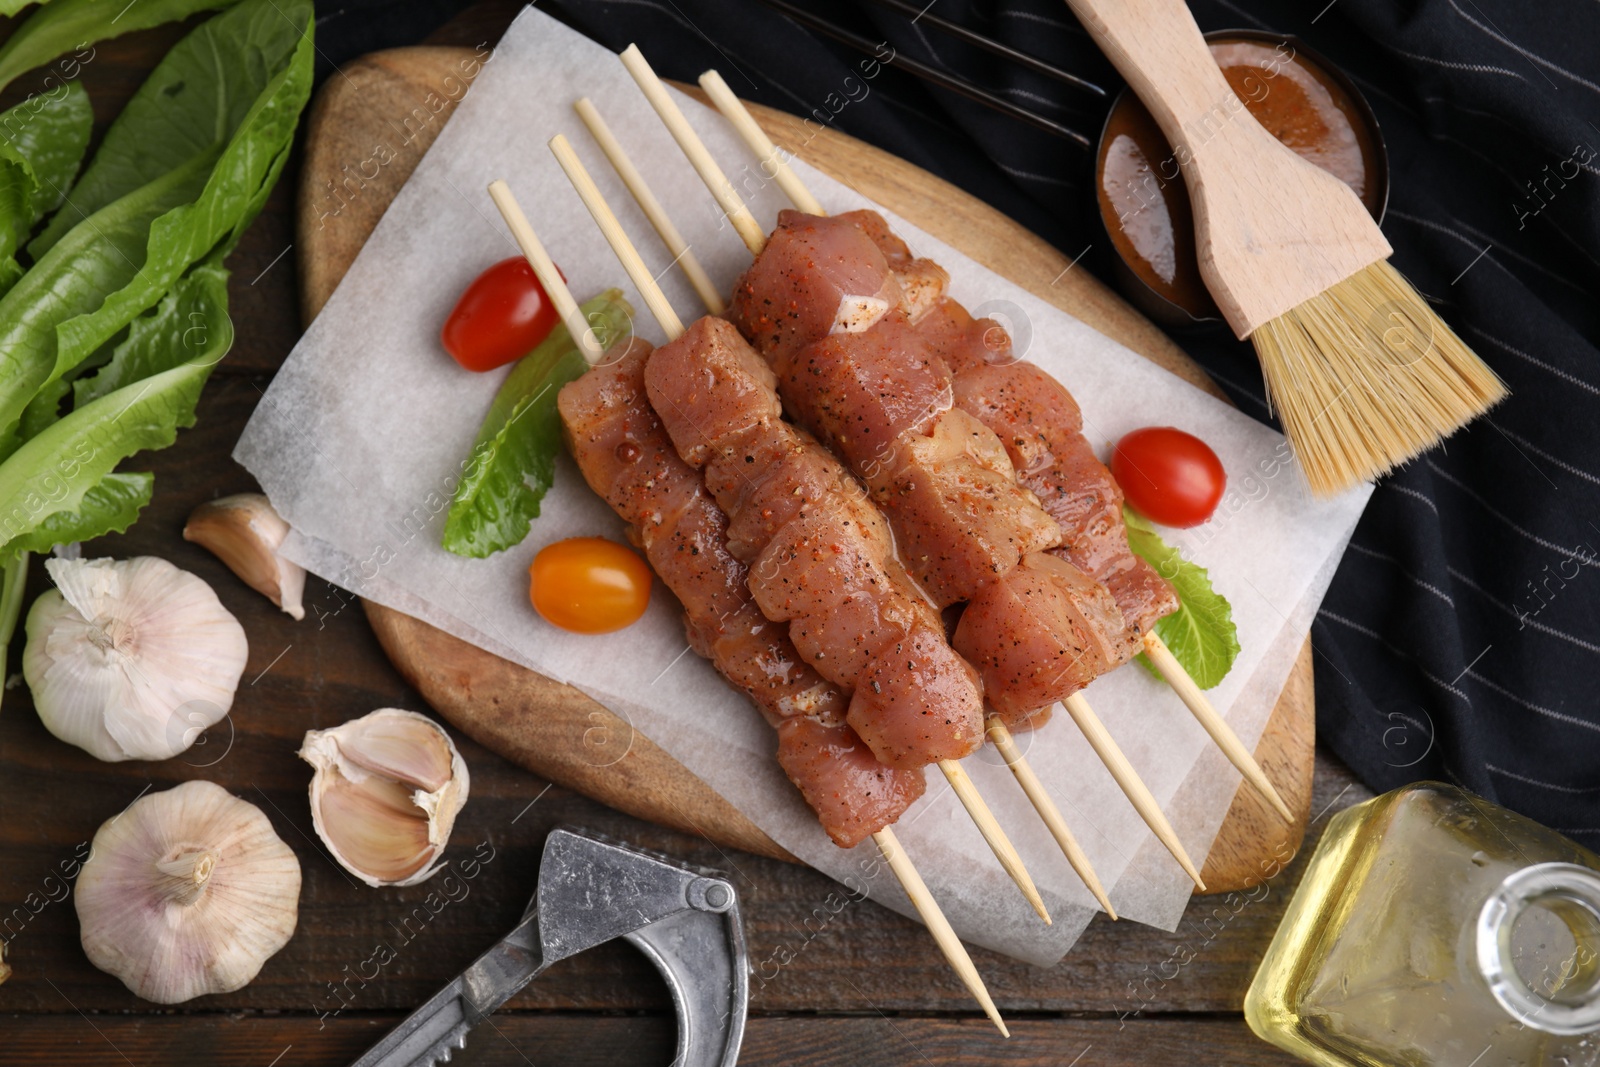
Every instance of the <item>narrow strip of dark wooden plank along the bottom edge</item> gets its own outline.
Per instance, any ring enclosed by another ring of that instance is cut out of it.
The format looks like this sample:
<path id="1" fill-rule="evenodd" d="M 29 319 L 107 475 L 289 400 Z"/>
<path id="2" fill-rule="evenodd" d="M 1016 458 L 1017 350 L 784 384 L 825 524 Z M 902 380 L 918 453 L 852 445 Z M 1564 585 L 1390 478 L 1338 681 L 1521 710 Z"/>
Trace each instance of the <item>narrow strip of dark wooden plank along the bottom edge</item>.
<path id="1" fill-rule="evenodd" d="M 208 1025 L 174 1016 L 0 1016 L 6 1049 L 19 1062 L 53 1067 L 104 1064 L 198 1064 L 213 1067 L 306 1067 L 346 1064 L 395 1022 L 394 1016 L 346 1017 L 318 1027 L 294 1016 L 214 1016 Z M 451 1064 L 482 1067 L 640 1067 L 672 1056 L 670 1016 L 571 1016 L 499 1013 L 475 1030 Z M 739 1062 L 858 1067 L 925 1064 L 928 1067 L 1093 1067 L 1138 1062 L 1144 1067 L 1283 1067 L 1293 1057 L 1256 1040 L 1242 1019 L 1182 1021 L 1014 1017 L 1011 1040 L 981 1019 L 869 1016 L 819 1019 L 757 1016 L 749 1021 Z"/>

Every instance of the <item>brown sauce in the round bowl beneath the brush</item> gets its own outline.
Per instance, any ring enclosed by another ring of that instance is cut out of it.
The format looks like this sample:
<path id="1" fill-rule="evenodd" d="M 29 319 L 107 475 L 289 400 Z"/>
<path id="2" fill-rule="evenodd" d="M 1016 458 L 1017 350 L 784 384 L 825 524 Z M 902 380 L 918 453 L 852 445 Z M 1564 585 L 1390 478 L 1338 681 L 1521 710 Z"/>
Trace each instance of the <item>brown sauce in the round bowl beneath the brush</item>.
<path id="1" fill-rule="evenodd" d="M 1355 86 L 1288 38 L 1226 30 L 1206 35 L 1206 43 L 1267 133 L 1344 181 L 1381 219 L 1389 168 L 1378 123 Z M 1094 174 L 1101 222 L 1131 274 L 1133 285 L 1123 288 L 1134 302 L 1166 325 L 1216 318 L 1195 259 L 1194 208 L 1182 173 L 1133 93 L 1123 91 L 1112 104 Z"/>

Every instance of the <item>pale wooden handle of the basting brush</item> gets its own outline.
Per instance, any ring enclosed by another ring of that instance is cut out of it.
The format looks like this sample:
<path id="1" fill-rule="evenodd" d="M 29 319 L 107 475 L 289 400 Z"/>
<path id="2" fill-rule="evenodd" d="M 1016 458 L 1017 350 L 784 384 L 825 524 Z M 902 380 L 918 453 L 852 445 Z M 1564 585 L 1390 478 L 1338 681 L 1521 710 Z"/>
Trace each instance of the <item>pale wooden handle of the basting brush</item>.
<path id="1" fill-rule="evenodd" d="M 1194 203 L 1200 275 L 1237 336 L 1389 258 L 1360 197 L 1246 110 L 1182 0 L 1067 6 L 1173 146 Z"/>

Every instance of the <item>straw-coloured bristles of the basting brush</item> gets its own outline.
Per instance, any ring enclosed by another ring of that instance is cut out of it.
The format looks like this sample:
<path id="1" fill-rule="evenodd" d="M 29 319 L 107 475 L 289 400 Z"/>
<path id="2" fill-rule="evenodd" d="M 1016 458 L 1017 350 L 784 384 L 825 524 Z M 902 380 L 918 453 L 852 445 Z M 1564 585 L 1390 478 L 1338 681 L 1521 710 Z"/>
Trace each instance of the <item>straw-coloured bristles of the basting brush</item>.
<path id="1" fill-rule="evenodd" d="M 1317 496 L 1386 474 L 1506 395 L 1494 371 L 1387 261 L 1250 339 Z"/>

